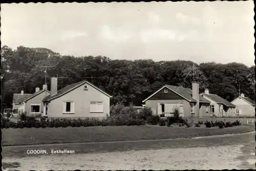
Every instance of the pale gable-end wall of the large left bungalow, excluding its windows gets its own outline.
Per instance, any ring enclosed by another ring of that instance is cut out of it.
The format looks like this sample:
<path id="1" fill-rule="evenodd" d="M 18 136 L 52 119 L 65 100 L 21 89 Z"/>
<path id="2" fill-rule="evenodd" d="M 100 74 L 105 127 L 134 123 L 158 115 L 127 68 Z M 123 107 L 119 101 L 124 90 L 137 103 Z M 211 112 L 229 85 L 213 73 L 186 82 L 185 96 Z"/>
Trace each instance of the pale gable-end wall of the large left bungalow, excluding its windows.
<path id="1" fill-rule="evenodd" d="M 87 86 L 88 90 L 83 90 Z M 74 114 L 63 114 L 63 102 L 74 101 Z M 103 113 L 90 113 L 90 101 L 103 101 Z M 53 99 L 48 104 L 48 117 L 106 117 L 110 114 L 110 97 L 87 83 Z"/>

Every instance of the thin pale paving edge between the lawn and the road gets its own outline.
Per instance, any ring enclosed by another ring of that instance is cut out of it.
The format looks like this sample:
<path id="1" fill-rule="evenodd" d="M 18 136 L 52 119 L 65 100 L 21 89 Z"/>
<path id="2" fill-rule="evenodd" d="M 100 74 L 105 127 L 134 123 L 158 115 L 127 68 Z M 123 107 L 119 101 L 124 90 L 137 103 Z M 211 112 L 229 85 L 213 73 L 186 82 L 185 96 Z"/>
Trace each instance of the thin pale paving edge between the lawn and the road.
<path id="1" fill-rule="evenodd" d="M 66 144 L 100 144 L 100 143 L 125 143 L 125 142 L 145 142 L 145 141 L 175 141 L 175 140 L 185 140 L 185 139 L 204 139 L 204 138 L 215 138 L 215 137 L 230 137 L 237 135 L 247 135 L 255 133 L 255 131 L 246 132 L 246 133 L 238 133 L 238 134 L 223 134 L 223 135 L 212 135 L 212 136 L 202 136 L 202 137 L 191 137 L 191 138 L 171 138 L 171 139 L 154 139 L 154 140 L 127 140 L 127 141 L 101 141 L 101 142 L 69 142 L 69 143 L 52 143 L 52 144 L 30 144 L 30 145 L 7 145 L 5 147 L 18 147 L 18 146 L 50 146 L 50 145 L 66 145 Z"/>

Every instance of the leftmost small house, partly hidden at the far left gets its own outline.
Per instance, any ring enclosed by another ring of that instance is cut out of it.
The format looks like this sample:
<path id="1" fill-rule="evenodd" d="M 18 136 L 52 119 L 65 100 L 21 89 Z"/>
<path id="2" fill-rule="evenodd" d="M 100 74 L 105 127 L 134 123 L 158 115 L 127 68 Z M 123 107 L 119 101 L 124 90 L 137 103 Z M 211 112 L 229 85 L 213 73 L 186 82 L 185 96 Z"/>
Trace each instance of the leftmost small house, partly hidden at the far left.
<path id="1" fill-rule="evenodd" d="M 30 97 L 32 94 L 24 94 L 22 90 L 20 94 L 14 93 L 12 98 L 12 114 L 13 116 L 17 116 L 25 112 L 25 102 L 24 100 Z"/>

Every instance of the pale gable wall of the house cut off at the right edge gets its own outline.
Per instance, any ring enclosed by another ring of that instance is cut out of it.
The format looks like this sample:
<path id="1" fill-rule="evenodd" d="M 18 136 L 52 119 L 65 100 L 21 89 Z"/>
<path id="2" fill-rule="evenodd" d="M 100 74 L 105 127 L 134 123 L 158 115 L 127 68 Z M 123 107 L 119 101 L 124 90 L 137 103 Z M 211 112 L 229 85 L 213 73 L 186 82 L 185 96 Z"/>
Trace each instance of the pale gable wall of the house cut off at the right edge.
<path id="1" fill-rule="evenodd" d="M 239 115 L 241 116 L 254 116 L 255 113 L 255 106 L 249 104 L 247 101 L 238 98 L 234 101 L 232 101 L 232 104 L 236 105 L 236 109 L 240 109 Z"/>

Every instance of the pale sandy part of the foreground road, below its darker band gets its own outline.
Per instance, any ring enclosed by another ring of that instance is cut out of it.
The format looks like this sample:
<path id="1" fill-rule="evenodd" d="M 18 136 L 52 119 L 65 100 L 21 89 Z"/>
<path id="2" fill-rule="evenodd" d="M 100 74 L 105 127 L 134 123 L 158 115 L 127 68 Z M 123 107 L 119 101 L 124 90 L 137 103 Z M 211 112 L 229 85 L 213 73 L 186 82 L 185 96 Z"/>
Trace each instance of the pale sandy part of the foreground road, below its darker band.
<path id="1" fill-rule="evenodd" d="M 78 155 L 5 158 L 19 170 L 239 169 L 242 146 L 157 149 Z M 8 168 L 9 169 L 9 168 Z M 9 169 L 11 170 L 11 169 Z"/>

